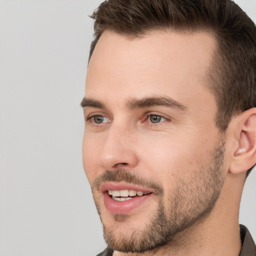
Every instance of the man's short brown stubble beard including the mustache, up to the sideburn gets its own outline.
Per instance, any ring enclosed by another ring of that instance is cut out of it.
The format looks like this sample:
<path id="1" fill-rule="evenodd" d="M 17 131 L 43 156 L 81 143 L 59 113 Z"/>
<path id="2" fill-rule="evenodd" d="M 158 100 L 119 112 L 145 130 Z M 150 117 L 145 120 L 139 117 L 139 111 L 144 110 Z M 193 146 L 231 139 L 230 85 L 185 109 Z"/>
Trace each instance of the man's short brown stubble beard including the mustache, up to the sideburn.
<path id="1" fill-rule="evenodd" d="M 92 186 L 99 187 L 104 181 L 125 181 L 132 184 L 143 184 L 154 189 L 157 196 L 157 209 L 151 212 L 151 216 L 143 227 L 129 227 L 123 230 L 116 230 L 116 226 L 109 226 L 104 223 L 97 198 L 94 198 L 95 205 L 103 225 L 104 239 L 113 250 L 120 252 L 145 252 L 157 247 L 166 245 L 175 240 L 175 237 L 186 228 L 193 225 L 200 219 L 204 219 L 213 209 L 223 186 L 223 158 L 224 140 L 219 143 L 211 152 L 211 160 L 194 171 L 189 179 L 177 180 L 175 189 L 168 195 L 168 205 L 163 204 L 163 188 L 153 181 L 143 181 L 134 173 L 128 170 L 106 171 L 97 178 Z M 167 191 L 168 192 L 168 191 Z M 113 218 L 120 224 L 129 220 L 125 214 L 113 214 Z"/>

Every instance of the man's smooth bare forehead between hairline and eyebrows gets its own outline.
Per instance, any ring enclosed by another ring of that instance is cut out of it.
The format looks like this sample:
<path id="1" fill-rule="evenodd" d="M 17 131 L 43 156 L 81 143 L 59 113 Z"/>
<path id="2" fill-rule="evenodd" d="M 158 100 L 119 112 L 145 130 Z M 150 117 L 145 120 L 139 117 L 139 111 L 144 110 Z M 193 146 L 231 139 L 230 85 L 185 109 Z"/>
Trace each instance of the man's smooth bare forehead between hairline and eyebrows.
<path id="1" fill-rule="evenodd" d="M 198 97 L 207 90 L 203 78 L 214 49 L 205 32 L 153 31 L 131 39 L 104 31 L 88 65 L 85 96 L 109 103 L 157 93 Z"/>

